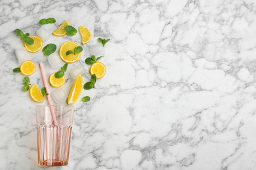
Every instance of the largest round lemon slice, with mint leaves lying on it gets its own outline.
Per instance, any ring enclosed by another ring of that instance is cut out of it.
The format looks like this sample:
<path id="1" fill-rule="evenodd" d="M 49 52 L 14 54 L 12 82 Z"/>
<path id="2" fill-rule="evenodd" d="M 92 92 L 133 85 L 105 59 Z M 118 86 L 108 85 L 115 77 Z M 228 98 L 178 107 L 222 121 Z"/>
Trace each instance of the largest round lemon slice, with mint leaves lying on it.
<path id="1" fill-rule="evenodd" d="M 74 48 L 77 46 L 79 45 L 73 41 L 64 42 L 62 46 L 60 46 L 60 58 L 67 63 L 74 63 L 75 61 L 77 61 L 81 56 L 81 52 L 66 56 L 66 52 L 68 50 L 72 50 L 72 52 L 74 52 Z"/>

